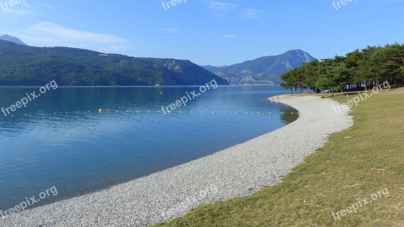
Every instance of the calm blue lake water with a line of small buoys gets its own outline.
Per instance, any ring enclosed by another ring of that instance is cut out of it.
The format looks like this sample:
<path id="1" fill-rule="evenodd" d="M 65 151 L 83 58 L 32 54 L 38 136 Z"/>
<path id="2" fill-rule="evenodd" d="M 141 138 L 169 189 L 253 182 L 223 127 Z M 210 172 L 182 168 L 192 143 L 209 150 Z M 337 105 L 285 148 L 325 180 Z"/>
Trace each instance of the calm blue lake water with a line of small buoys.
<path id="1" fill-rule="evenodd" d="M 295 112 L 292 108 L 264 101 L 289 93 L 280 86 L 219 86 L 167 115 L 158 113 L 198 88 L 58 87 L 12 112 L 13 117 L 0 112 L 0 209 L 53 186 L 58 195 L 35 206 L 104 189 L 297 118 L 281 114 Z M 38 94 L 39 87 L 0 87 L 0 108 L 34 91 Z"/>

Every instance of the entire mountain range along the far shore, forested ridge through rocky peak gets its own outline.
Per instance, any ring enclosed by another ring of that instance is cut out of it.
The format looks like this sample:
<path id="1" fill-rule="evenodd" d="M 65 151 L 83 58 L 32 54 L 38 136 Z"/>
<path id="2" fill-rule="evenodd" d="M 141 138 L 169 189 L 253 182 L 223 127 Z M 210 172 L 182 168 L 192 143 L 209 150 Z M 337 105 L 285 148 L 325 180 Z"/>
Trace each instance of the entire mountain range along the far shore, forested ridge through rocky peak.
<path id="1" fill-rule="evenodd" d="M 198 66 L 188 60 L 134 58 L 76 48 L 37 48 L 0 36 L 0 85 L 201 85 L 279 84 L 280 76 L 316 60 L 301 50 L 230 66 Z"/>

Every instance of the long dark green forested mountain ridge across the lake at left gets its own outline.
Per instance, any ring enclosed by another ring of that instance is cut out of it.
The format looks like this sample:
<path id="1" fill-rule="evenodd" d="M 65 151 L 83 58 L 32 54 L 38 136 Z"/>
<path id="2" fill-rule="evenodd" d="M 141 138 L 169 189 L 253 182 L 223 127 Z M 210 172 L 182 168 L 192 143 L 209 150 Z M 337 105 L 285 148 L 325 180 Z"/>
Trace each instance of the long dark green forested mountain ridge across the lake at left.
<path id="1" fill-rule="evenodd" d="M 0 40 L 0 85 L 201 85 L 225 79 L 188 60 L 134 58 Z"/>

